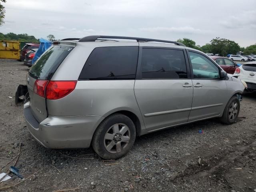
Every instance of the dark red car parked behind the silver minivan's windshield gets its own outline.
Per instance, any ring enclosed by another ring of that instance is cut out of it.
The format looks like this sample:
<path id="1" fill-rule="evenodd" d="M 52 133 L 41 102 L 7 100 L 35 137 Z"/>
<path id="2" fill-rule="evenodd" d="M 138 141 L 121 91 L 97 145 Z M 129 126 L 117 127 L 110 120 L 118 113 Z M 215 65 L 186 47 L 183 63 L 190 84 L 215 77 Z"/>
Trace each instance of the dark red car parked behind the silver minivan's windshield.
<path id="1" fill-rule="evenodd" d="M 219 66 L 221 66 L 224 71 L 229 74 L 234 74 L 236 68 L 238 68 L 237 64 L 232 60 L 226 57 L 219 57 L 219 56 L 210 56 Z"/>

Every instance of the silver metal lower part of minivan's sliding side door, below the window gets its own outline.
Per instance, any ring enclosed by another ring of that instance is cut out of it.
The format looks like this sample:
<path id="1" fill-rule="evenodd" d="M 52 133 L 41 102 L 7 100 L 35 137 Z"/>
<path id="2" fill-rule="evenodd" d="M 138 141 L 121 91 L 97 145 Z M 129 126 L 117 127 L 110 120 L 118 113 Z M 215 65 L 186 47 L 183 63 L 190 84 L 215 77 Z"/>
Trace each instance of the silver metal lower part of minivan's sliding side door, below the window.
<path id="1" fill-rule="evenodd" d="M 148 131 L 185 123 L 191 109 L 191 79 L 136 80 L 134 92 Z"/>

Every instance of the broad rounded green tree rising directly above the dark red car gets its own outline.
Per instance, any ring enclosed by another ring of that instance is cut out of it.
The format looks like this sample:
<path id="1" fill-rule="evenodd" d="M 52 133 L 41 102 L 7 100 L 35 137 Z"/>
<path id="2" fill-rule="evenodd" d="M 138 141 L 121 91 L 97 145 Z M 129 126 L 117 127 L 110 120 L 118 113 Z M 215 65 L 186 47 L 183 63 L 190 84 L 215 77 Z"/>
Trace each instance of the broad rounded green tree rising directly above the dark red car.
<path id="1" fill-rule="evenodd" d="M 228 39 L 221 39 L 216 37 L 211 41 L 211 50 L 214 54 L 220 54 L 222 56 L 226 56 L 227 54 L 236 54 L 236 52 L 240 51 L 240 46 Z"/>

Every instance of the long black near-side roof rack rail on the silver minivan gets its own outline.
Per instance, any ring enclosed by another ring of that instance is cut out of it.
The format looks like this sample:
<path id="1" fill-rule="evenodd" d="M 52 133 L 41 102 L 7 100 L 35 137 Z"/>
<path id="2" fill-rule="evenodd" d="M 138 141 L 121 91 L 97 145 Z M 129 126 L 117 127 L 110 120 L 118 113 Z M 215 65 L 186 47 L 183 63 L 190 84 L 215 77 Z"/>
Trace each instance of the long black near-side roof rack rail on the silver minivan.
<path id="1" fill-rule="evenodd" d="M 139 38 L 139 37 L 123 37 L 123 36 L 104 36 L 104 35 L 92 35 L 92 36 L 86 36 L 81 38 L 78 42 L 94 42 L 98 38 L 101 39 L 131 39 L 136 40 L 137 42 L 164 42 L 164 43 L 172 43 L 180 46 L 185 46 L 184 44 L 176 41 L 166 41 L 166 40 L 159 40 L 159 39 L 148 39 L 148 38 Z"/>

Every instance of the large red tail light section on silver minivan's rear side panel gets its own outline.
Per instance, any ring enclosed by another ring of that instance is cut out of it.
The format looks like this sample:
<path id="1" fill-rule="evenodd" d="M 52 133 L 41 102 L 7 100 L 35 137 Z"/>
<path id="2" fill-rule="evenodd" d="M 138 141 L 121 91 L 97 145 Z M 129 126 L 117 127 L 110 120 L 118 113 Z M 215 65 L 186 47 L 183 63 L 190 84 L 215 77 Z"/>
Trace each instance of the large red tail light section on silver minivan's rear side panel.
<path id="1" fill-rule="evenodd" d="M 50 81 L 46 87 L 46 99 L 60 99 L 76 88 L 77 81 Z"/>

